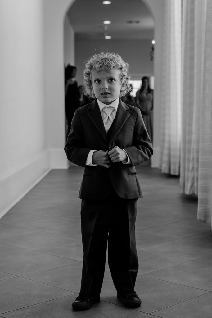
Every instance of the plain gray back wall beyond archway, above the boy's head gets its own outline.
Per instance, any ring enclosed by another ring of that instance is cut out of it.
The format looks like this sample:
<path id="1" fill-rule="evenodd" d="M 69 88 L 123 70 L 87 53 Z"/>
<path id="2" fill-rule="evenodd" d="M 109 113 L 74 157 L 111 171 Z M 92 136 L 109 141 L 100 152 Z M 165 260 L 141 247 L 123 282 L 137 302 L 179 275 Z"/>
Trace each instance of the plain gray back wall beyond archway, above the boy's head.
<path id="1" fill-rule="evenodd" d="M 78 85 L 83 83 L 83 70 L 85 60 L 101 51 L 119 53 L 122 59 L 129 64 L 132 79 L 141 79 L 143 75 L 154 75 L 153 65 L 150 61 L 151 41 L 149 40 L 101 40 L 101 41 L 75 41 L 75 57 Z"/>

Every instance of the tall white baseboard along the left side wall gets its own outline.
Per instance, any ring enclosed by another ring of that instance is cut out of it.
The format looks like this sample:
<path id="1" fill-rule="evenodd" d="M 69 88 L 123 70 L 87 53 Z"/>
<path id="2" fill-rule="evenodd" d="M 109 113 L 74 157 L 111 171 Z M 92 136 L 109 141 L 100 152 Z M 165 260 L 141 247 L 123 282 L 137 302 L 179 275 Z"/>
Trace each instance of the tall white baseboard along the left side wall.
<path id="1" fill-rule="evenodd" d="M 20 201 L 51 170 L 49 152 L 0 175 L 0 218 Z"/>

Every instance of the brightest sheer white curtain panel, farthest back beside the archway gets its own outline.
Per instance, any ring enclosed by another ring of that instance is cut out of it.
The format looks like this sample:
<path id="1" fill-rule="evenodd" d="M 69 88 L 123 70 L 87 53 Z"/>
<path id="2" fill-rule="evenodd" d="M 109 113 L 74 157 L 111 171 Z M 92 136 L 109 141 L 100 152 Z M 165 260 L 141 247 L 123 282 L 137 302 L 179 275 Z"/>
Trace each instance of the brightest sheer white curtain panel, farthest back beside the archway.
<path id="1" fill-rule="evenodd" d="M 181 0 L 165 0 L 159 168 L 179 175 L 181 141 Z"/>

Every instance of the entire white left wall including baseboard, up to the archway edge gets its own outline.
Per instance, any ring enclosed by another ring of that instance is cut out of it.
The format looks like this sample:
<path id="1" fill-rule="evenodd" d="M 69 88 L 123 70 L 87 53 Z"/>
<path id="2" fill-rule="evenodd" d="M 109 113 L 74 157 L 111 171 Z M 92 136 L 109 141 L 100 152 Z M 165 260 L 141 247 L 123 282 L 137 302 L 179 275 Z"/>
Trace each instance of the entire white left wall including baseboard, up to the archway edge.
<path id="1" fill-rule="evenodd" d="M 0 218 L 51 168 L 67 167 L 64 19 L 72 2 L 0 1 Z"/>

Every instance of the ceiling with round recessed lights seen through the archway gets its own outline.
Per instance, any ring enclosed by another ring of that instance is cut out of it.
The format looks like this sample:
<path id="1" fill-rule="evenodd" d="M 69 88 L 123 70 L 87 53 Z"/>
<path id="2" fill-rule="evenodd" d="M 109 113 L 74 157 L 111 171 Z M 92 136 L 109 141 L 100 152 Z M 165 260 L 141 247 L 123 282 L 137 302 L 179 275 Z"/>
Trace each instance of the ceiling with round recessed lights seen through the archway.
<path id="1" fill-rule="evenodd" d="M 142 0 L 111 0 L 108 5 L 102 0 L 76 0 L 67 15 L 75 39 L 103 40 L 105 35 L 111 40 L 154 38 L 154 19 Z M 105 20 L 111 24 L 103 24 Z"/>

